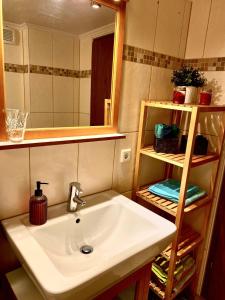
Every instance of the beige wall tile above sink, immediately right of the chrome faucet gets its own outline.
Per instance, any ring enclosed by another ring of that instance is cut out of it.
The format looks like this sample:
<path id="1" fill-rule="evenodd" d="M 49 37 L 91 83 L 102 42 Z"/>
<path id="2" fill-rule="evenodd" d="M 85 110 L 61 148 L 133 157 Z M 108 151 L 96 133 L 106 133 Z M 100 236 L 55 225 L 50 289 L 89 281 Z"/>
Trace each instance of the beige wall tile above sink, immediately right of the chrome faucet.
<path id="1" fill-rule="evenodd" d="M 78 181 L 84 195 L 112 188 L 115 141 L 79 144 Z"/>

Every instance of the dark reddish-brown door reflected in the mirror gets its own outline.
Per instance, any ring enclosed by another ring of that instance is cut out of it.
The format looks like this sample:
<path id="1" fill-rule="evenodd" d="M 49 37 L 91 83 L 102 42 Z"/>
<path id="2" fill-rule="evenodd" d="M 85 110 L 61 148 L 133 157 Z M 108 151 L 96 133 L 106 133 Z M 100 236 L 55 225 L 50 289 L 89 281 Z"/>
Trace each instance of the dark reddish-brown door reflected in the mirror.
<path id="1" fill-rule="evenodd" d="M 114 33 L 93 40 L 91 67 L 91 126 L 104 125 L 105 99 L 111 98 Z"/>

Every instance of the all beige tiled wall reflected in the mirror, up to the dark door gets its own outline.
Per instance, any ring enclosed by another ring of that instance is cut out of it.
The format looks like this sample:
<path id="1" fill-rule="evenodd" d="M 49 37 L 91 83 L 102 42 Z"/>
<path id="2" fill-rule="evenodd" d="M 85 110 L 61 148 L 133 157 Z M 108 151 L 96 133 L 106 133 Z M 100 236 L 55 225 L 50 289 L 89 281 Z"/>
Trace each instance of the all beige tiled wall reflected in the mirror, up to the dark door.
<path id="1" fill-rule="evenodd" d="M 7 106 L 29 111 L 31 128 L 89 126 L 92 40 L 115 25 L 80 36 L 31 24 L 8 26 L 19 33 L 19 45 L 5 44 Z"/>

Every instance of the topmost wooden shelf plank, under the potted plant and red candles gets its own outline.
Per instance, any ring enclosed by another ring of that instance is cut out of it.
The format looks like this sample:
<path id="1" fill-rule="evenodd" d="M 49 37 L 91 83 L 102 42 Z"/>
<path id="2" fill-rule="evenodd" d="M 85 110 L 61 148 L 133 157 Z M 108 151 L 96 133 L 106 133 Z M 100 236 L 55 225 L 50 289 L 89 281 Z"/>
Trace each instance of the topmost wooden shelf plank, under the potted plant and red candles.
<path id="1" fill-rule="evenodd" d="M 145 105 L 155 108 L 164 108 L 170 110 L 180 110 L 192 112 L 193 107 L 198 107 L 200 112 L 220 112 L 225 111 L 224 105 L 197 105 L 197 104 L 176 104 L 172 101 L 144 100 Z"/>

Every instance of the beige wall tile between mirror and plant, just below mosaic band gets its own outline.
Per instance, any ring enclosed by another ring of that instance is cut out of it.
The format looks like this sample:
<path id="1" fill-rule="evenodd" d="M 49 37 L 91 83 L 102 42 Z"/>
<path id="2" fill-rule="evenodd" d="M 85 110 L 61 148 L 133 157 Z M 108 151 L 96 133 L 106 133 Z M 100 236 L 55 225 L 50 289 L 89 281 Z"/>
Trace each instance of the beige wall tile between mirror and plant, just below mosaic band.
<path id="1" fill-rule="evenodd" d="M 148 99 L 151 67 L 132 62 L 123 63 L 123 81 L 119 111 L 120 132 L 138 130 L 140 103 Z"/>

